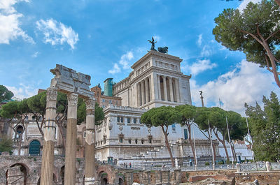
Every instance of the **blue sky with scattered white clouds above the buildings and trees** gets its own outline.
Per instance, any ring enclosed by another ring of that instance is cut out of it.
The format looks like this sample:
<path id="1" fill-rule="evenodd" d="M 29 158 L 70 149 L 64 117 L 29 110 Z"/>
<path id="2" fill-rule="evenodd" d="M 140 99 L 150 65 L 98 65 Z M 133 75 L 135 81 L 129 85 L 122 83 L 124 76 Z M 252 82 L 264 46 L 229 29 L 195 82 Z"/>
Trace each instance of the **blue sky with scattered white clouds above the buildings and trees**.
<path id="1" fill-rule="evenodd" d="M 254 0 L 253 2 L 258 2 Z M 245 1 L 0 0 L 0 84 L 17 98 L 47 89 L 55 64 L 92 77 L 92 86 L 119 82 L 151 48 L 169 47 L 192 75 L 193 105 L 221 106 L 244 114 L 244 103 L 279 94 L 272 73 L 248 63 L 242 52 L 216 42 L 214 18 Z"/>

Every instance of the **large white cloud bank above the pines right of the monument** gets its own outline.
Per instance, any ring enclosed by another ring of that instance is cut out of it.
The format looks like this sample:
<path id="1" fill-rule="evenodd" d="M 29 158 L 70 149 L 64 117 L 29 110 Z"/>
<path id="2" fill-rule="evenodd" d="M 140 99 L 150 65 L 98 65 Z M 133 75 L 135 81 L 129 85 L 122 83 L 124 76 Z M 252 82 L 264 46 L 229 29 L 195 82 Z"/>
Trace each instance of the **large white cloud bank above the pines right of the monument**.
<path id="1" fill-rule="evenodd" d="M 204 105 L 219 106 L 218 99 L 221 98 L 223 109 L 234 110 L 241 114 L 244 114 L 244 103 L 254 105 L 255 101 L 261 103 L 262 95 L 269 96 L 270 91 L 280 93 L 271 73 L 246 60 L 242 60 L 235 70 L 219 76 L 216 80 L 201 86 L 197 85 L 195 80 L 191 80 L 190 85 L 195 105 L 201 106 L 198 91 L 202 90 Z"/>

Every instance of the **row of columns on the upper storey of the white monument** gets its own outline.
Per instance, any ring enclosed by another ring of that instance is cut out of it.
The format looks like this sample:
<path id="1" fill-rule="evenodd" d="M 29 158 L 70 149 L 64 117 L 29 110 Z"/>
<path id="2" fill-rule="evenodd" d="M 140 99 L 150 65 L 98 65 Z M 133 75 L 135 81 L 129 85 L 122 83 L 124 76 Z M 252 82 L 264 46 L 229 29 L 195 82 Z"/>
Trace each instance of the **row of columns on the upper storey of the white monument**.
<path id="1" fill-rule="evenodd" d="M 153 87 L 151 75 L 137 83 L 138 106 L 145 105 L 153 98 L 160 101 L 180 102 L 179 78 L 157 74 L 153 80 Z M 155 94 L 152 94 L 152 88 Z"/>

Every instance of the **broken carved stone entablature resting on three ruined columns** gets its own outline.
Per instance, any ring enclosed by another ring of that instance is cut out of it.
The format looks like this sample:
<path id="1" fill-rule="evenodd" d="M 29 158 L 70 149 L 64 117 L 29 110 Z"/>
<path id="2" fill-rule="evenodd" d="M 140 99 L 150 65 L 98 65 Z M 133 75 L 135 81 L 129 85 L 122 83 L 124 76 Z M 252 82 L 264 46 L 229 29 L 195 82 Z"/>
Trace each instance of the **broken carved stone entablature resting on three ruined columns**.
<path id="1" fill-rule="evenodd" d="M 57 87 L 59 91 L 65 93 L 76 93 L 83 98 L 93 96 L 93 92 L 90 91 L 90 75 L 83 73 L 77 73 L 71 68 L 57 64 L 57 66 L 50 70 L 55 75 L 52 78 L 51 87 Z"/>

